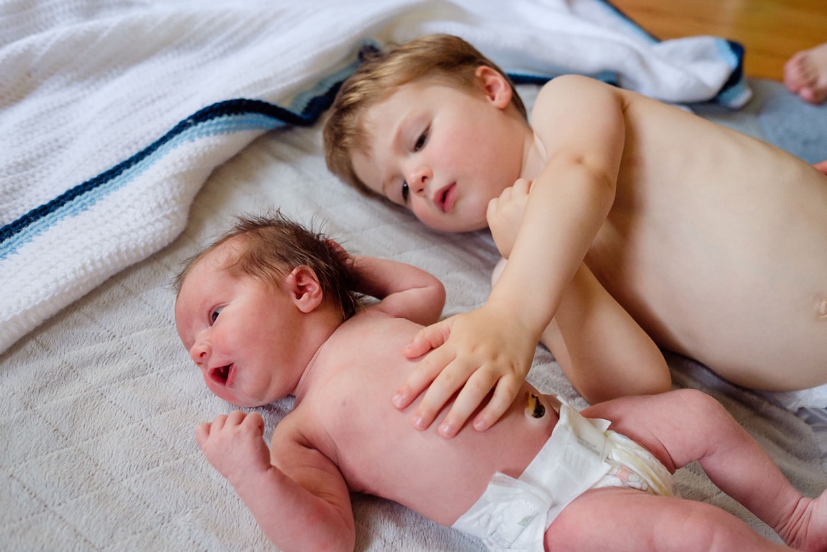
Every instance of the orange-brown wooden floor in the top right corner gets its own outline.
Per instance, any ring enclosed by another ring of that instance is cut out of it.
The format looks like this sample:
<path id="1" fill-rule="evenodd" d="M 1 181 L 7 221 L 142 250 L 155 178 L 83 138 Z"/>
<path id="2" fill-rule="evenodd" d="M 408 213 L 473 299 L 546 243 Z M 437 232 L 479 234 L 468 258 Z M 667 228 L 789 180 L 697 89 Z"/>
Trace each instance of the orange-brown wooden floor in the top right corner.
<path id="1" fill-rule="evenodd" d="M 784 62 L 827 42 L 827 0 L 609 0 L 665 40 L 714 35 L 746 48 L 749 77 L 781 80 Z"/>

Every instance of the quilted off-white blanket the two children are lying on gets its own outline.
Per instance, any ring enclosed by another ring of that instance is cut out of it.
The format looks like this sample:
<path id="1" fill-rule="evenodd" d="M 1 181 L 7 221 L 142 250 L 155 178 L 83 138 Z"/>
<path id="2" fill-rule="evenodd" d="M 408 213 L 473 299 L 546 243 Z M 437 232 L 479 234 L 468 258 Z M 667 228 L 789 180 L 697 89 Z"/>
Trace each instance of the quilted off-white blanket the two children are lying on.
<path id="1" fill-rule="evenodd" d="M 778 92 L 767 86 L 759 83 L 758 91 Z M 520 88 L 528 102 L 535 90 Z M 713 109 L 705 117 L 761 133 L 759 112 Z M 0 549 L 273 550 L 198 450 L 194 427 L 232 406 L 208 392 L 179 344 L 170 287 L 184 259 L 234 215 L 268 207 L 350 250 L 436 274 L 447 288 L 446 316 L 479 306 L 489 292 L 498 255 L 487 232 L 437 233 L 361 197 L 327 173 L 318 125 L 270 131 L 213 172 L 172 244 L 109 278 L 0 356 Z M 804 421 L 689 359 L 668 361 L 676 386 L 718 398 L 797 488 L 810 496 L 825 489 L 818 446 Z M 529 378 L 544 392 L 586 405 L 543 347 Z M 259 409 L 265 436 L 290 406 L 287 398 Z M 685 497 L 723 507 L 772 536 L 697 465 L 679 470 L 676 482 Z M 353 502 L 356 550 L 485 550 L 393 502 L 364 496 Z"/>

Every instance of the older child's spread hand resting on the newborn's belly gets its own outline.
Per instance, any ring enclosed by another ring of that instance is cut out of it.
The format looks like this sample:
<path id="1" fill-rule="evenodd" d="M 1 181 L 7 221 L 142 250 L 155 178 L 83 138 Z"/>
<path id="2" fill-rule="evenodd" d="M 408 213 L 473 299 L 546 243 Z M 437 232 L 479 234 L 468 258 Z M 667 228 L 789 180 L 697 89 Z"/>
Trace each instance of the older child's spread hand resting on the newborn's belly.
<path id="1" fill-rule="evenodd" d="M 507 309 L 486 303 L 423 328 L 403 354 L 409 359 L 426 356 L 394 396 L 394 405 L 407 407 L 426 388 L 414 412 L 414 427 L 424 430 L 454 393 L 451 410 L 439 425 L 445 437 L 457 435 L 471 414 L 494 389 L 485 407 L 474 418 L 474 428 L 484 431 L 508 410 L 531 368 L 537 340 L 519 327 Z"/>

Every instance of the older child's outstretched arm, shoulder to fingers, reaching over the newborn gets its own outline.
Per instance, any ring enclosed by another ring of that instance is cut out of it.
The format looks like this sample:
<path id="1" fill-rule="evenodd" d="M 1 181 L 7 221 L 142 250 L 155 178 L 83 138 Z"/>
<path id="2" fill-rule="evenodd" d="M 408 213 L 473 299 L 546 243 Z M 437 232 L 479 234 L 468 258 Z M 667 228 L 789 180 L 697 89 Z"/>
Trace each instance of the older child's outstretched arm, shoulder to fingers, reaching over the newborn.
<path id="1" fill-rule="evenodd" d="M 533 182 L 500 281 L 483 307 L 426 328 L 409 347 L 409 356 L 435 348 L 397 405 L 406 406 L 430 385 L 414 412 L 420 429 L 457 391 L 442 435 L 455 435 L 491 388 L 474 427 L 484 430 L 499 419 L 614 202 L 625 140 L 619 93 L 593 79 L 557 78 L 538 95 L 532 117 L 547 163 Z"/>

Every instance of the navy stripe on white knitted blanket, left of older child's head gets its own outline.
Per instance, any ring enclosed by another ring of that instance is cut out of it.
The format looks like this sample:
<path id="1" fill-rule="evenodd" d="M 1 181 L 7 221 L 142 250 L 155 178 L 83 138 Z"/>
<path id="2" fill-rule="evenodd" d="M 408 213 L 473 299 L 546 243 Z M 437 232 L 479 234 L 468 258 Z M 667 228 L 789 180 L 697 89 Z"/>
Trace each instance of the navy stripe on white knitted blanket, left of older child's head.
<path id="1" fill-rule="evenodd" d="M 161 136 L 158 140 L 155 140 L 155 142 L 147 146 L 146 149 L 138 152 L 136 155 L 132 155 L 129 159 L 112 167 L 112 169 L 108 169 L 107 171 L 98 174 L 98 176 L 90 178 L 86 182 L 80 183 L 74 188 L 70 188 L 60 194 L 60 196 L 52 199 L 50 202 L 44 203 L 40 207 L 32 209 L 16 221 L 12 221 L 6 226 L 3 226 L 0 228 L 0 243 L 22 231 L 26 228 L 26 226 L 30 226 L 36 221 L 47 217 L 50 213 L 60 209 L 60 207 L 63 207 L 77 197 L 84 195 L 84 193 L 88 193 L 90 190 L 98 188 L 104 183 L 112 180 L 112 178 L 117 178 L 123 174 L 124 171 L 134 167 L 138 163 L 141 163 L 142 160 L 155 153 L 155 151 L 161 146 L 165 145 L 170 140 L 173 140 L 175 136 L 179 136 L 184 131 L 188 131 L 194 126 L 198 126 L 205 121 L 212 121 L 218 117 L 232 117 L 256 113 L 264 115 L 265 117 L 270 117 L 276 121 L 282 121 L 288 125 L 310 126 L 318 121 L 318 117 L 322 115 L 327 107 L 331 106 L 333 98 L 335 98 L 341 85 L 341 81 L 334 83 L 332 87 L 327 90 L 327 92 L 313 97 L 301 113 L 292 112 L 289 109 L 275 105 L 275 103 L 245 98 L 226 100 L 223 102 L 213 103 L 213 105 L 208 107 L 204 107 L 198 112 L 195 112 L 192 116 L 184 119 L 184 121 L 180 121 L 171 131 L 167 132 L 164 136 Z"/>

